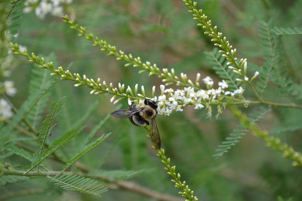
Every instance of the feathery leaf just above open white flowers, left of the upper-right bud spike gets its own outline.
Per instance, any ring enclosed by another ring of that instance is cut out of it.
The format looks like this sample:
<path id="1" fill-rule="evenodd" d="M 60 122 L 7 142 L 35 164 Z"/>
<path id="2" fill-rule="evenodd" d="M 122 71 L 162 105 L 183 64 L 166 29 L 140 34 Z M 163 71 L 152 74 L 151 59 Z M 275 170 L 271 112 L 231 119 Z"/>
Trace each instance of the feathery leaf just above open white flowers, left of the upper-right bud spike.
<path id="1" fill-rule="evenodd" d="M 213 66 L 216 74 L 228 82 L 230 90 L 239 89 L 239 85 L 243 86 L 242 82 L 235 82 L 239 75 L 234 73 L 232 69 L 228 68 L 226 65 L 226 58 L 221 56 L 222 54 L 218 52 L 218 48 L 214 48 L 211 52 L 204 52 L 204 54 L 206 55 L 207 60 Z"/>

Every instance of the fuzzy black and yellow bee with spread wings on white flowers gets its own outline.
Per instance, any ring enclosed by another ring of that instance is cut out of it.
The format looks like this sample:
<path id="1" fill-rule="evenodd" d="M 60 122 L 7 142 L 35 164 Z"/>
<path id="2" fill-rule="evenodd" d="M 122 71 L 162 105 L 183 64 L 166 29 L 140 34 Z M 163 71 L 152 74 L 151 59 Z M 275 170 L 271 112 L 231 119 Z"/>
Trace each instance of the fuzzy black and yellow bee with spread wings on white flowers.
<path id="1" fill-rule="evenodd" d="M 111 116 L 119 119 L 129 118 L 130 122 L 136 126 L 150 125 L 150 139 L 154 147 L 160 149 L 160 137 L 156 125 L 155 117 L 157 114 L 157 104 L 153 100 L 145 99 L 145 105 L 136 107 L 134 102 L 131 102 L 129 109 L 121 109 L 112 112 Z M 150 123 L 151 121 L 151 123 Z"/>

